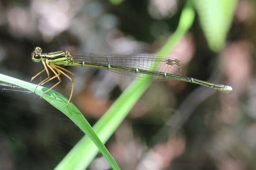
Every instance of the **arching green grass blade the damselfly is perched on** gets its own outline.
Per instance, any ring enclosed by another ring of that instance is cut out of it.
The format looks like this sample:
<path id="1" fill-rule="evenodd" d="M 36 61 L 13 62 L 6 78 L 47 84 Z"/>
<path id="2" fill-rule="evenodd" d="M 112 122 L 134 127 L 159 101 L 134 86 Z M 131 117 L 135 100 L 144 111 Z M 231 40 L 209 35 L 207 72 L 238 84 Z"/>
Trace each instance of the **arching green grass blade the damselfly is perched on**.
<path id="1" fill-rule="evenodd" d="M 39 96 L 41 96 L 47 90 L 47 88 L 45 87 L 37 86 L 2 74 L 0 74 L 0 81 L 13 85 L 18 85 L 31 92 L 35 92 Z M 94 133 L 93 129 L 91 128 L 91 125 L 83 117 L 82 113 L 75 107 L 75 105 L 73 105 L 73 103 L 70 103 L 67 107 L 66 103 L 68 102 L 68 100 L 60 93 L 57 93 L 53 90 L 47 92 L 42 98 L 50 104 L 52 104 L 56 109 L 63 112 L 69 119 L 71 119 L 76 124 L 76 126 L 78 126 L 86 134 L 86 136 L 88 136 L 91 139 L 91 141 L 93 141 L 93 143 L 98 147 L 98 149 L 101 151 L 104 157 L 109 161 L 111 167 L 114 170 L 120 169 L 116 161 L 110 155 L 105 145 L 101 143 L 99 137 Z M 66 165 L 64 169 L 72 170 L 73 167 Z"/>

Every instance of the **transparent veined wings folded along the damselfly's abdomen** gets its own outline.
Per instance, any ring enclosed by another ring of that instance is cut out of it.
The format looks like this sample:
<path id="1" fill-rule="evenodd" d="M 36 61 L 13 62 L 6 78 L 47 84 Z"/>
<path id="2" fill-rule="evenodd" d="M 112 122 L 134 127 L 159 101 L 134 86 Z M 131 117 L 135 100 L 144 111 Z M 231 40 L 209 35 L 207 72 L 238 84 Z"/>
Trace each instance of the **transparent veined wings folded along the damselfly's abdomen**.
<path id="1" fill-rule="evenodd" d="M 156 71 L 161 73 L 169 73 L 178 76 L 183 76 L 185 74 L 185 69 L 183 64 L 178 59 L 172 58 L 161 58 L 159 56 L 148 55 L 148 54 L 138 54 L 138 55 L 103 55 L 94 53 L 85 54 L 72 54 L 73 61 L 75 62 L 85 62 L 89 64 L 100 64 L 100 65 L 110 65 L 115 67 L 126 67 L 126 68 L 138 68 L 148 71 Z M 121 75 L 121 76 L 131 76 L 144 79 L 145 74 L 133 73 L 128 71 L 111 70 L 109 72 Z M 153 76 L 155 80 L 166 80 L 168 78 L 162 76 Z"/>

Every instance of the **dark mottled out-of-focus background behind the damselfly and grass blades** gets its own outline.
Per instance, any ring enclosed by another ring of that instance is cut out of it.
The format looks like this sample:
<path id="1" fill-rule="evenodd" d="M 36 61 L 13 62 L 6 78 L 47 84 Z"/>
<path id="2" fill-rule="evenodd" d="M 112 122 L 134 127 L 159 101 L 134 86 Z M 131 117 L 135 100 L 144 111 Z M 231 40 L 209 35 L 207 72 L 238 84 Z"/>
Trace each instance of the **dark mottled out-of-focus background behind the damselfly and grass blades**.
<path id="1" fill-rule="evenodd" d="M 106 144 L 122 169 L 255 169 L 256 3 L 218 1 L 194 1 L 193 26 L 168 57 L 181 60 L 187 76 L 231 85 L 233 92 L 153 82 Z M 177 28 L 184 4 L 0 0 L 0 73 L 30 81 L 43 68 L 31 60 L 35 46 L 44 52 L 156 53 Z M 68 69 L 76 74 L 72 102 L 91 125 L 132 81 L 96 68 Z M 63 78 L 55 90 L 68 97 L 70 88 Z M 1 90 L 0 115 L 1 170 L 53 169 L 83 136 L 33 93 Z M 106 170 L 109 165 L 99 154 L 89 169 Z"/>

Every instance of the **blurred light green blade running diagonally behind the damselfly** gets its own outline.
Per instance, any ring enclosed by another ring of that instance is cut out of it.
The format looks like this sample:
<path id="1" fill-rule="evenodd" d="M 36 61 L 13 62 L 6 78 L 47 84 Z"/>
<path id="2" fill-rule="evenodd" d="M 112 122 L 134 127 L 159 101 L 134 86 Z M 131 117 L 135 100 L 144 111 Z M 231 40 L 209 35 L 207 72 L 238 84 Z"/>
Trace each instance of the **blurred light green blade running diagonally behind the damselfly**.
<path id="1" fill-rule="evenodd" d="M 176 31 L 166 42 L 165 46 L 157 53 L 158 56 L 165 57 L 174 49 L 175 45 L 181 41 L 192 26 L 194 16 L 192 0 L 187 0 L 186 5 L 182 10 Z M 144 81 L 133 81 L 119 96 L 116 102 L 113 103 L 104 116 L 102 116 L 102 118 L 94 125 L 93 129 L 101 139 L 102 143 L 106 143 L 110 136 L 115 132 L 117 127 L 127 116 L 128 112 L 146 91 L 150 82 L 149 79 Z M 86 169 L 98 152 L 98 148 L 91 142 L 91 139 L 88 136 L 84 136 L 60 162 L 56 169 L 64 168 L 68 164 L 73 164 L 74 167 L 76 165 L 76 169 L 79 170 Z"/>

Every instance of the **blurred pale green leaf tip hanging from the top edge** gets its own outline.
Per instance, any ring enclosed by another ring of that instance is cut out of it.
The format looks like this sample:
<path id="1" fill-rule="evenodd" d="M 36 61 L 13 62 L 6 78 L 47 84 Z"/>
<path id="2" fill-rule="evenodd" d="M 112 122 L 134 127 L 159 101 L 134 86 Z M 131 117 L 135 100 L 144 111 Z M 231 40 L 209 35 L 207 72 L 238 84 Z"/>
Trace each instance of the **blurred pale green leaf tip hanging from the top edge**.
<path id="1" fill-rule="evenodd" d="M 226 42 L 237 0 L 193 0 L 202 30 L 212 51 L 220 51 Z"/>

